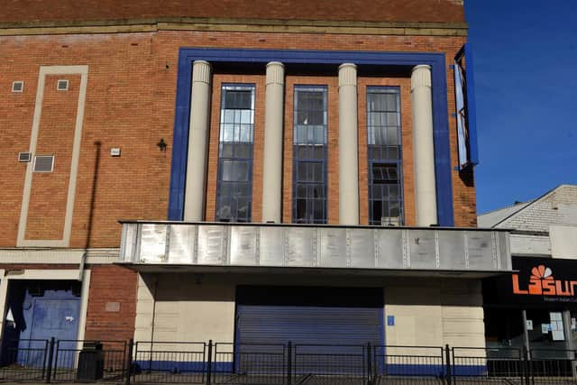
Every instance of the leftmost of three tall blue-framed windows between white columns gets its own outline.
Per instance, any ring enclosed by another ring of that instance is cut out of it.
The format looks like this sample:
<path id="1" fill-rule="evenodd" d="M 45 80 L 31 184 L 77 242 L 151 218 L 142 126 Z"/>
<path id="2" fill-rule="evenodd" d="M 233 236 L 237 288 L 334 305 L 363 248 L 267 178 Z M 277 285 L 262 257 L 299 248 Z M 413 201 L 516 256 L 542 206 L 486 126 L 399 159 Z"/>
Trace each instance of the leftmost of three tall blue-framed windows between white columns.
<path id="1" fill-rule="evenodd" d="M 216 179 L 216 220 L 251 222 L 254 86 L 223 85 Z"/>

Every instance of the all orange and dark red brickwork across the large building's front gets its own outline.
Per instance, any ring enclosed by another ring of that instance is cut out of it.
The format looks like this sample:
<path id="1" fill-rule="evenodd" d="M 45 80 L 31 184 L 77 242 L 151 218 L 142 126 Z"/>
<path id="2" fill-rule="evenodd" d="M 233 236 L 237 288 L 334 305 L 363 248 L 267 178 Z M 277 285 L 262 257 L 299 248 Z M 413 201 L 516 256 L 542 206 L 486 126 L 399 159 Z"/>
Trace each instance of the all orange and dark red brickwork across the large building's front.
<path id="1" fill-rule="evenodd" d="M 52 0 L 50 0 L 51 2 Z M 49 3 L 50 3 L 49 2 Z M 290 4 L 261 3 L 234 7 L 206 2 L 196 5 L 194 14 L 182 14 L 184 2 L 163 4 L 126 2 L 107 6 L 107 0 L 81 4 L 68 0 L 50 6 L 7 5 L 0 11 L 0 23 L 41 20 L 42 23 L 78 20 L 117 20 L 129 17 L 223 16 L 256 19 L 346 20 L 374 22 L 463 22 L 459 1 L 394 0 L 387 5 L 368 7 L 359 1 L 330 5 L 298 1 Z M 328 4 L 328 2 L 327 2 Z M 16 9 L 17 8 L 17 9 Z M 112 9 L 114 8 L 114 14 Z M 26 12 L 22 12 L 22 10 Z M 189 9 L 189 8 L 188 8 Z M 247 14 L 250 9 L 251 13 Z M 301 17 L 294 14 L 298 9 Z M 354 10 L 354 12 L 353 12 Z M 76 22 L 75 22 L 76 23 Z M 41 23 L 40 23 L 41 24 Z M 58 24 L 58 23 L 57 23 Z M 63 24 L 59 24 L 62 26 Z M 0 25 L 0 29 L 2 25 Z M 289 30 L 288 30 L 289 31 Z M 419 32 L 419 33 L 422 33 Z M 0 35 L 0 142 L 8 145 L 0 158 L 0 247 L 16 245 L 24 189 L 25 165 L 17 161 L 18 151 L 27 151 L 31 142 L 32 120 L 41 66 L 88 67 L 87 99 L 80 145 L 76 199 L 72 216 L 71 248 L 116 248 L 121 238 L 119 219 L 164 220 L 169 202 L 170 160 L 180 47 L 251 48 L 277 50 L 353 50 L 445 52 L 447 66 L 461 48 L 464 36 L 387 35 L 314 32 L 219 32 L 153 31 L 117 33 L 46 34 L 37 36 Z M 242 70 L 240 71 L 242 73 Z M 215 218 L 217 156 L 221 85 L 255 85 L 255 124 L 252 170 L 252 221 L 261 221 L 262 157 L 264 142 L 265 69 L 255 74 L 230 74 L 215 69 L 212 79 L 212 106 L 209 133 L 206 215 Z M 56 91 L 59 78 L 69 79 L 69 91 Z M 46 78 L 41 107 L 39 148 L 56 156 L 54 172 L 35 173 L 26 228 L 26 239 L 60 239 L 71 160 L 70 142 L 78 114 L 78 75 Z M 12 93 L 15 80 L 24 81 L 23 93 Z M 328 223 L 339 222 L 338 157 L 338 74 L 303 75 L 288 72 L 285 79 L 282 218 L 292 218 L 292 135 L 295 85 L 328 87 Z M 359 105 L 359 197 L 361 225 L 368 223 L 366 87 L 400 87 L 403 147 L 405 221 L 415 225 L 410 78 L 391 75 L 358 78 Z M 448 111 L 452 165 L 457 164 L 456 122 L 453 118 L 453 72 L 447 67 Z M 157 143 L 168 143 L 160 151 Z M 40 146 L 41 143 L 41 146 Z M 121 156 L 112 157 L 111 148 Z M 475 191 L 472 174 L 452 170 L 453 207 L 456 226 L 476 224 Z M 33 269 L 75 269 L 70 265 L 35 265 Z M 14 267 L 3 266 L 5 269 Z M 114 265 L 90 265 L 91 280 L 87 307 L 87 339 L 126 340 L 133 336 L 138 274 Z M 15 269 L 15 268 L 14 268 Z M 113 304 L 113 305 L 110 305 Z M 118 310 L 115 310 L 118 308 Z"/>

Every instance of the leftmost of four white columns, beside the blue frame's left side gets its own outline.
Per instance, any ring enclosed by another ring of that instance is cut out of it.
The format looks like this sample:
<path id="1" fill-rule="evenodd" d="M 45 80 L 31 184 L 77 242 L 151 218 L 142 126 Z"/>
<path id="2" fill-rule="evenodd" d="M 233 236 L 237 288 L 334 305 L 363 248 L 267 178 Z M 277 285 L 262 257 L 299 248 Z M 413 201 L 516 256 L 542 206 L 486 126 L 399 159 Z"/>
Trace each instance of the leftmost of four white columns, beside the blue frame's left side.
<path id="1" fill-rule="evenodd" d="M 188 129 L 187 185 L 184 220 L 202 221 L 205 212 L 206 154 L 210 115 L 210 64 L 197 60 L 192 66 L 192 97 Z"/>

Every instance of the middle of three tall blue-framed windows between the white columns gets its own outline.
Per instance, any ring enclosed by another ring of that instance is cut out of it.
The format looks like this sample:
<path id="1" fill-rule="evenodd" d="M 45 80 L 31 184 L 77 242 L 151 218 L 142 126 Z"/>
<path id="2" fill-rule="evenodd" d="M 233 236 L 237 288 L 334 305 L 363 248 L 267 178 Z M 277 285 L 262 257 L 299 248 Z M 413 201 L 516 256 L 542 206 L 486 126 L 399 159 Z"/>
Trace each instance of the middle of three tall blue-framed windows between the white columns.
<path id="1" fill-rule="evenodd" d="M 326 87 L 295 87 L 293 223 L 326 223 Z"/>

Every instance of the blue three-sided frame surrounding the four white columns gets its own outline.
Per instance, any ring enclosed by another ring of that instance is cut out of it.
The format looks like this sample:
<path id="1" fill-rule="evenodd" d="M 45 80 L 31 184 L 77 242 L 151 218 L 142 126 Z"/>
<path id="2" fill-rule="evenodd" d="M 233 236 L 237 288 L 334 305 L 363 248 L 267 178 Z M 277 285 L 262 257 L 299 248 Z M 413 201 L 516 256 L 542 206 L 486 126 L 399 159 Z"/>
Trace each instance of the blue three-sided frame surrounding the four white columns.
<path id="1" fill-rule="evenodd" d="M 371 52 L 339 50 L 229 50 L 179 49 L 177 102 L 174 119 L 172 169 L 170 171 L 169 220 L 184 217 L 184 194 L 187 172 L 188 120 L 192 63 L 195 60 L 212 62 L 245 62 L 264 65 L 269 61 L 286 64 L 342 64 L 414 67 L 428 64 L 432 68 L 433 129 L 435 142 L 436 200 L 438 225 L 453 226 L 453 184 L 451 179 L 451 148 L 447 109 L 447 78 L 444 53 L 435 52 Z"/>

